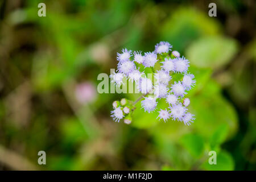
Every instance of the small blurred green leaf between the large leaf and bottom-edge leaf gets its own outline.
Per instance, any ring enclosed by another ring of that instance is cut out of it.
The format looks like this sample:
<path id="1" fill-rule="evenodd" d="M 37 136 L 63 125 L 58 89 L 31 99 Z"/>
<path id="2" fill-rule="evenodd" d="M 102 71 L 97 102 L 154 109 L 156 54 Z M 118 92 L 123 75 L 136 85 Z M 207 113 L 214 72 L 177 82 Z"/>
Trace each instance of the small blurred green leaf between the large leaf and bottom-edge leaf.
<path id="1" fill-rule="evenodd" d="M 199 157 L 204 151 L 204 140 L 197 134 L 186 134 L 181 137 L 181 145 L 194 157 Z"/>

